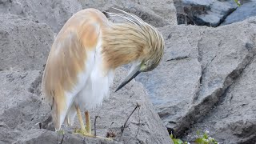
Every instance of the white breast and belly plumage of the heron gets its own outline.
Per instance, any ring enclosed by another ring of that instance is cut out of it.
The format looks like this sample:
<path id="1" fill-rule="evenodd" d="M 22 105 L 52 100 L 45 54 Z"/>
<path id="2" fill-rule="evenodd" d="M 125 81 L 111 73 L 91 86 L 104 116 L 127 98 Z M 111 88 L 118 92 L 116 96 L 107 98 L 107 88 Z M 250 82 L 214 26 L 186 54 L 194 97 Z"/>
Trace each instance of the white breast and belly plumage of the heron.
<path id="1" fill-rule="evenodd" d="M 100 38 L 99 38 L 100 39 Z M 93 110 L 102 105 L 109 97 L 110 86 L 114 79 L 114 70 L 103 70 L 101 42 L 96 49 L 87 53 L 86 70 L 78 75 L 78 84 L 72 91 L 66 92 L 66 105 L 69 109 L 62 112 L 60 122 L 67 116 L 73 125 L 76 115 L 75 106 L 82 110 Z"/>

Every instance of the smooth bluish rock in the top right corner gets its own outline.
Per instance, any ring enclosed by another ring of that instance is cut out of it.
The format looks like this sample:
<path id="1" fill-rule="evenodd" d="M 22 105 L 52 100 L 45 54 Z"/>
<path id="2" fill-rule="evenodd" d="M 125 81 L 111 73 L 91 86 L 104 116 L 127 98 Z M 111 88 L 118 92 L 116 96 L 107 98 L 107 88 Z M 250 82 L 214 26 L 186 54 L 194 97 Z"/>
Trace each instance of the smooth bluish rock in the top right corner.
<path id="1" fill-rule="evenodd" d="M 226 17 L 222 25 L 228 25 L 234 22 L 241 22 L 246 18 L 256 16 L 256 1 L 246 2 L 234 10 L 232 14 Z"/>

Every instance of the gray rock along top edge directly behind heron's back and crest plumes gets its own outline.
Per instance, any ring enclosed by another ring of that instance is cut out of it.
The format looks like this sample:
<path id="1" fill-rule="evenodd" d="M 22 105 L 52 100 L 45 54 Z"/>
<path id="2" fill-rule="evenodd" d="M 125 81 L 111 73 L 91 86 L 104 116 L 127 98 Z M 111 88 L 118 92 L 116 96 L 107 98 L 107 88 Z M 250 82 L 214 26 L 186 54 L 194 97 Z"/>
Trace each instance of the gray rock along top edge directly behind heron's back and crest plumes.
<path id="1" fill-rule="evenodd" d="M 153 26 L 166 26 L 166 25 L 176 25 L 176 10 L 174 7 L 174 2 L 172 0 L 166 1 L 161 0 L 155 2 L 154 0 L 150 1 L 83 1 L 82 7 L 89 8 L 93 7 L 98 10 L 109 10 L 111 7 L 117 7 L 122 10 L 126 10 L 130 13 L 138 15 L 144 21 L 150 23 Z"/>

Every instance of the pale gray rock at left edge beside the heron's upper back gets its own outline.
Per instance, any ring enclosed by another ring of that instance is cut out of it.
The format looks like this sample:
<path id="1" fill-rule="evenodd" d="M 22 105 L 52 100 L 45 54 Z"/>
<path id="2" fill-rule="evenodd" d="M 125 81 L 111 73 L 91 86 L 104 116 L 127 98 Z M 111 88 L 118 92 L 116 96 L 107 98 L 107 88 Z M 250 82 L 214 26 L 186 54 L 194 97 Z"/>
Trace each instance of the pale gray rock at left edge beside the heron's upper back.
<path id="1" fill-rule="evenodd" d="M 0 13 L 0 70 L 42 70 L 53 38 L 46 24 Z"/>

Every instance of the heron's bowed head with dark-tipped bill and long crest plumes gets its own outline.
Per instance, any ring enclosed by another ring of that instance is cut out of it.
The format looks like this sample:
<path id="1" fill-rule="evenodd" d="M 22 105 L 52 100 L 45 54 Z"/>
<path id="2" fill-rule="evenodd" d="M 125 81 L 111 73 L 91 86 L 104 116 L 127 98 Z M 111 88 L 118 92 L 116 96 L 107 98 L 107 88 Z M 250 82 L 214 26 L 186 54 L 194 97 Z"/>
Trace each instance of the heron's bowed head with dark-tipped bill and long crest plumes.
<path id="1" fill-rule="evenodd" d="M 118 47 L 115 49 L 113 47 L 119 46 L 118 43 L 116 43 L 116 45 L 113 45 L 109 51 L 112 51 L 114 54 L 114 50 L 121 51 L 122 49 L 122 54 L 120 55 L 123 55 L 123 59 L 127 57 L 126 59 L 134 59 L 134 61 L 132 62 L 130 72 L 115 91 L 120 90 L 138 74 L 154 70 L 161 61 L 164 50 L 164 38 L 154 26 L 150 26 L 150 24 L 144 22 L 134 14 L 129 14 L 123 10 L 119 11 L 121 11 L 122 14 L 105 14 L 109 17 L 125 18 L 130 22 L 128 25 L 115 25 L 114 29 L 110 32 L 115 34 L 114 38 L 116 41 L 126 42 L 126 46 L 124 46 L 124 48 Z M 113 32 L 114 30 L 117 30 L 118 32 Z M 120 32 L 121 30 L 126 31 L 126 33 Z M 113 41 L 109 41 L 108 44 L 109 43 L 113 43 Z M 114 57 L 112 57 L 112 59 L 117 60 L 117 58 Z"/>

